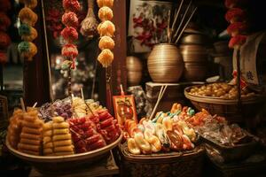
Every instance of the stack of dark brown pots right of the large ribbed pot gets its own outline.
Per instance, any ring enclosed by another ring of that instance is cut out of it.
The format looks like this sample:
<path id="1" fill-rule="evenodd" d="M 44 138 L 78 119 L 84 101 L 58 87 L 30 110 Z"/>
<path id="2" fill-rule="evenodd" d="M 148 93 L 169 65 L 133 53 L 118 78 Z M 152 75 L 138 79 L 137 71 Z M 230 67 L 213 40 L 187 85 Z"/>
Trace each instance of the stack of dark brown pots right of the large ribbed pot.
<path id="1" fill-rule="evenodd" d="M 207 36 L 193 31 L 185 33 L 180 50 L 184 60 L 184 80 L 204 81 L 207 76 Z"/>

